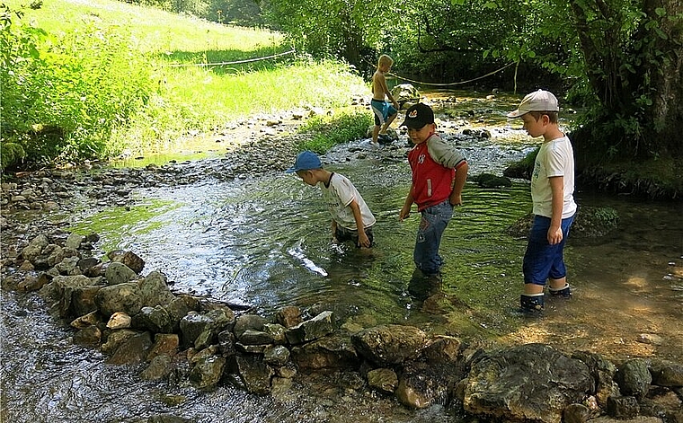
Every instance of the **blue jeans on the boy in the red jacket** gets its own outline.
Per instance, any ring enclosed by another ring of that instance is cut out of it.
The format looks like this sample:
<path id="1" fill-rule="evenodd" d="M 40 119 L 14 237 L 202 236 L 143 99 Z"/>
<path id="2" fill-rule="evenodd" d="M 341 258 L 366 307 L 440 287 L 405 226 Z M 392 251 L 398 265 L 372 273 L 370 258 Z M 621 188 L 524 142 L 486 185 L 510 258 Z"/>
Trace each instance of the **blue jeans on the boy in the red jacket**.
<path id="1" fill-rule="evenodd" d="M 439 256 L 441 235 L 453 217 L 453 206 L 448 199 L 421 212 L 420 228 L 417 231 L 415 251 L 412 260 L 415 266 L 427 276 L 439 273 L 443 260 Z"/>

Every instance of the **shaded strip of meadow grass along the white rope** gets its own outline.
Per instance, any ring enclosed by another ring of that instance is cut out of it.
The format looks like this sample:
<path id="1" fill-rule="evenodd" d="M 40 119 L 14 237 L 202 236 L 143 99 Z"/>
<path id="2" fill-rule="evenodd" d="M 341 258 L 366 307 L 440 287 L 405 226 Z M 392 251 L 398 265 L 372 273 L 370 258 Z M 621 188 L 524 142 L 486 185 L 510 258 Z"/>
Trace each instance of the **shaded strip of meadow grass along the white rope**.
<path id="1" fill-rule="evenodd" d="M 167 62 L 168 66 L 203 66 L 217 75 L 230 75 L 274 69 L 276 64 L 292 60 L 294 54 L 289 53 L 290 51 L 290 48 L 272 47 L 250 51 L 173 51 L 156 57 Z"/>

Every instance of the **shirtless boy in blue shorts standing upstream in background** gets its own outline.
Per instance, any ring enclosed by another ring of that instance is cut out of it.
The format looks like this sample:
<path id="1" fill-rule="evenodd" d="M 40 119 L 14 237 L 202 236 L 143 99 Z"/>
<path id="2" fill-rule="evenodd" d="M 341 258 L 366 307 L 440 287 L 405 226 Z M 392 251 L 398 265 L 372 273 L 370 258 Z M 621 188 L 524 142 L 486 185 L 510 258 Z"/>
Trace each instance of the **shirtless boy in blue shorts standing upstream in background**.
<path id="1" fill-rule="evenodd" d="M 398 101 L 389 93 L 386 86 L 385 74 L 389 72 L 391 66 L 394 65 L 394 59 L 386 55 L 382 55 L 377 60 L 377 70 L 372 75 L 372 100 L 370 101 L 370 109 L 375 114 L 375 128 L 372 129 L 372 143 L 377 144 L 377 139 L 383 142 L 389 142 L 391 139 L 386 134 L 386 129 L 389 128 L 391 122 L 396 119 L 398 114 Z M 386 102 L 389 99 L 394 106 L 392 107 Z"/>

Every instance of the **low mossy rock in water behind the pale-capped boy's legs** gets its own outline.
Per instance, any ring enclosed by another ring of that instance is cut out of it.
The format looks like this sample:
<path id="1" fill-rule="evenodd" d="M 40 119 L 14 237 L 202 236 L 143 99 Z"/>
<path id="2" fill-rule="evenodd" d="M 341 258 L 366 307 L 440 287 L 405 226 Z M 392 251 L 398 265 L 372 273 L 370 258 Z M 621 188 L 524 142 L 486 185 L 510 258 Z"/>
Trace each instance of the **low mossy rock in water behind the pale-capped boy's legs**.
<path id="1" fill-rule="evenodd" d="M 528 236 L 533 215 L 529 213 L 510 225 L 507 233 L 515 237 Z M 615 230 L 619 225 L 619 215 L 612 207 L 579 207 L 574 218 L 571 237 L 599 238 Z"/>

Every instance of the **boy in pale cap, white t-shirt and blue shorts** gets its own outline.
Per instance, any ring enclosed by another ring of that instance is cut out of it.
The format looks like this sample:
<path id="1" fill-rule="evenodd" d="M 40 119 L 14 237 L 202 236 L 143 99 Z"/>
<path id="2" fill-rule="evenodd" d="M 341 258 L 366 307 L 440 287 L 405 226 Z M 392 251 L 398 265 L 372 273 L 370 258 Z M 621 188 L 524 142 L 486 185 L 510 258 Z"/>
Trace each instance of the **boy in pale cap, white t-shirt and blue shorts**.
<path id="1" fill-rule="evenodd" d="M 531 175 L 531 199 L 534 223 L 524 254 L 524 294 L 521 311 L 541 313 L 544 288 L 549 279 L 551 295 L 572 295 L 564 266 L 564 242 L 576 214 L 574 202 L 574 153 L 569 137 L 558 124 L 559 107 L 553 93 L 544 90 L 530 93 L 508 118 L 520 118 L 531 137 L 543 136 L 534 172 Z"/>

